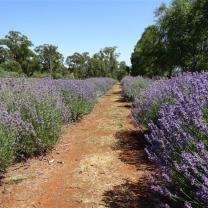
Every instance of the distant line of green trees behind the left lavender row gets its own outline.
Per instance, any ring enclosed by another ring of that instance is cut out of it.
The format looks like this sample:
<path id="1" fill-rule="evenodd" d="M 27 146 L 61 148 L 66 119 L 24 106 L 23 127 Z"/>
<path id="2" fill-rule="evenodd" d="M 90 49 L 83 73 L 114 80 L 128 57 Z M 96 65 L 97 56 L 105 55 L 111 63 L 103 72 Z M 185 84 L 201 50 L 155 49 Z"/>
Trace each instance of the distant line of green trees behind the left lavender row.
<path id="1" fill-rule="evenodd" d="M 121 79 L 128 73 L 126 63 L 118 61 L 116 47 L 105 47 L 92 56 L 88 52 L 76 52 L 66 60 L 55 45 L 43 44 L 34 49 L 32 47 L 31 40 L 17 31 L 10 31 L 1 38 L 0 76 Z"/>

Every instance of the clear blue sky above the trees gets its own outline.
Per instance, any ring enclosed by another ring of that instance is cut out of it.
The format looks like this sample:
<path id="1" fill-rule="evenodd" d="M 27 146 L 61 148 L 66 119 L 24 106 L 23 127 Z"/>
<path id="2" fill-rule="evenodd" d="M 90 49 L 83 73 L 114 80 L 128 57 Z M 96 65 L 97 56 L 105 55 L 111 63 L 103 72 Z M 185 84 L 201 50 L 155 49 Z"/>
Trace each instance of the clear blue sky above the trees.
<path id="1" fill-rule="evenodd" d="M 65 57 L 117 46 L 120 60 L 130 64 L 137 40 L 154 23 L 162 2 L 170 0 L 0 0 L 0 37 L 17 30 L 35 46 L 57 45 Z"/>

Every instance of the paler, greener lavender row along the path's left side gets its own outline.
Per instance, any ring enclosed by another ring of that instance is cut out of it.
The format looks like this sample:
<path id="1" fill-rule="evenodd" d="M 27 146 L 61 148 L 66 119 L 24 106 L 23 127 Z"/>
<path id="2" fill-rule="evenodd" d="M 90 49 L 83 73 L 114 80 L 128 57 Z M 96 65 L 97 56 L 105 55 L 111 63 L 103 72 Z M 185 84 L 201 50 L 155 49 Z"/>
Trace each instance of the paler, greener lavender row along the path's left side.
<path id="1" fill-rule="evenodd" d="M 88 113 L 113 84 L 111 78 L 0 79 L 0 174 L 51 149 L 61 127 Z"/>

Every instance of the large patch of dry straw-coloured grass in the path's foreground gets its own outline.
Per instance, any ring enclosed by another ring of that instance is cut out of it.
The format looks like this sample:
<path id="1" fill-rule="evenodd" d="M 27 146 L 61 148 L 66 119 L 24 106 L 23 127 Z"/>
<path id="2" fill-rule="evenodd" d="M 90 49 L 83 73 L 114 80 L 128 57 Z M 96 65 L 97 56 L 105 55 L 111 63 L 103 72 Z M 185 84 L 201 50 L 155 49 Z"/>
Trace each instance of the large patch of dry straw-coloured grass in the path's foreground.
<path id="1" fill-rule="evenodd" d="M 124 179 L 117 169 L 121 165 L 120 160 L 112 152 L 96 153 L 86 156 L 80 161 L 76 170 L 76 186 L 88 187 L 88 190 L 76 194 L 75 198 L 81 203 L 90 207 L 105 207 L 100 196 L 106 190 L 110 190 L 115 185 L 120 185 Z"/>

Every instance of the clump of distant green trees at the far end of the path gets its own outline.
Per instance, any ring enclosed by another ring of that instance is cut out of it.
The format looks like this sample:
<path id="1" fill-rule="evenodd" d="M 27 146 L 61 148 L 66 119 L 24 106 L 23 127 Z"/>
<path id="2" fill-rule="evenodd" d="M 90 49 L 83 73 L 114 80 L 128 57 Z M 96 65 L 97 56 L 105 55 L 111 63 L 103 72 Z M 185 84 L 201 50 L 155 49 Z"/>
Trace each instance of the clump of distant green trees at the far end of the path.
<path id="1" fill-rule="evenodd" d="M 90 57 L 89 53 L 74 53 L 68 56 L 66 64 L 75 78 L 113 77 L 121 80 L 127 74 L 126 63 L 118 62 L 116 47 L 105 47 Z"/>

